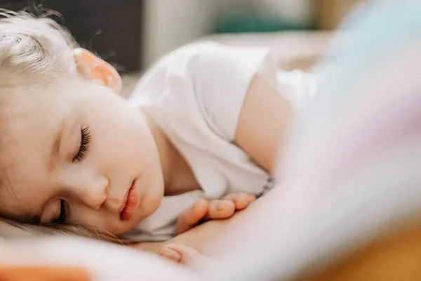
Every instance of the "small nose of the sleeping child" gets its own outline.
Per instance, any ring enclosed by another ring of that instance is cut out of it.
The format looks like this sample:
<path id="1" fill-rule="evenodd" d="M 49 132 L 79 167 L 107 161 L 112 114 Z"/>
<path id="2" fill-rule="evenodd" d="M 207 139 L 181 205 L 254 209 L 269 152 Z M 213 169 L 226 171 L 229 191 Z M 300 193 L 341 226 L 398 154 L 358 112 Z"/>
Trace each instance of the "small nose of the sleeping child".
<path id="1" fill-rule="evenodd" d="M 79 176 L 70 187 L 77 200 L 94 210 L 99 210 L 107 200 L 109 180 L 105 176 Z"/>

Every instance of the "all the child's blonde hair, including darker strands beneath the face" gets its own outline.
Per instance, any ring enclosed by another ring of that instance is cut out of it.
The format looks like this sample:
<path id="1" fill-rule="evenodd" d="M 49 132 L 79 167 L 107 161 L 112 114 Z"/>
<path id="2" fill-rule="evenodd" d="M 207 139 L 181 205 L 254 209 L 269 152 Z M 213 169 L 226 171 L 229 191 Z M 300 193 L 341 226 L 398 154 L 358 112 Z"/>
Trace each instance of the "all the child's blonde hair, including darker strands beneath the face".
<path id="1" fill-rule="evenodd" d="M 55 79 L 74 76 L 76 42 L 67 30 L 48 18 L 35 18 L 29 13 L 2 11 L 0 15 L 0 91 L 1 96 L 15 89 L 48 84 Z M 78 235 L 107 242 L 129 241 L 103 230 L 79 225 L 40 226 L 2 218 L 8 227 L 32 235 Z M 0 226 L 0 236 L 6 226 Z M 9 228 L 10 230 L 10 228 Z M 9 235 L 10 236 L 10 235 Z"/>

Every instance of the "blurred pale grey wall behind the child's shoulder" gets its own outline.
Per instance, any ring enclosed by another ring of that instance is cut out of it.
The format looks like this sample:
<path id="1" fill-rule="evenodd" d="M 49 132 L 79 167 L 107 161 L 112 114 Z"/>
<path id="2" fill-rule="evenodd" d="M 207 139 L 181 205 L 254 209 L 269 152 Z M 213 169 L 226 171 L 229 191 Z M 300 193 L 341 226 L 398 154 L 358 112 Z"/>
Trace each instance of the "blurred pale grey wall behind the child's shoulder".
<path id="1" fill-rule="evenodd" d="M 312 20 L 310 0 L 144 0 L 143 66 L 213 32 L 219 11 L 247 1 L 299 24 Z"/>

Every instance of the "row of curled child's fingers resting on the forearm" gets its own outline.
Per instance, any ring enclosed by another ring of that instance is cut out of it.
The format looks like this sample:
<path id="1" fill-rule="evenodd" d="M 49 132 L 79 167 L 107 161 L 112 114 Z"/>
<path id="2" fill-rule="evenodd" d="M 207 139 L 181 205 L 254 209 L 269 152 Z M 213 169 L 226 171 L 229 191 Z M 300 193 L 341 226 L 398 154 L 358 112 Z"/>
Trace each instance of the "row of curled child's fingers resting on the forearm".
<path id="1" fill-rule="evenodd" d="M 235 211 L 242 210 L 256 200 L 255 195 L 238 192 L 231 193 L 222 200 L 197 200 L 191 207 L 182 212 L 175 226 L 175 235 L 194 228 L 202 221 L 231 217 Z"/>

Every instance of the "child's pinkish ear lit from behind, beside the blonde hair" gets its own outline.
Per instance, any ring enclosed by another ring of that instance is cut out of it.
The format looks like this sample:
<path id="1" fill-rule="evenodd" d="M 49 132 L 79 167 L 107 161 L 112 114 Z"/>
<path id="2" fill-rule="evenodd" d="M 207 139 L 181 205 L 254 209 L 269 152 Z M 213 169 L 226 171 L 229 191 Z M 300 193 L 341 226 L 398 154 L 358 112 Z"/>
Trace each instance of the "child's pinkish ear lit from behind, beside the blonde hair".
<path id="1" fill-rule="evenodd" d="M 84 48 L 74 49 L 74 62 L 76 68 L 83 76 L 99 81 L 101 84 L 112 89 L 114 93 L 120 93 L 123 86 L 121 77 L 114 67 L 98 58 Z"/>

